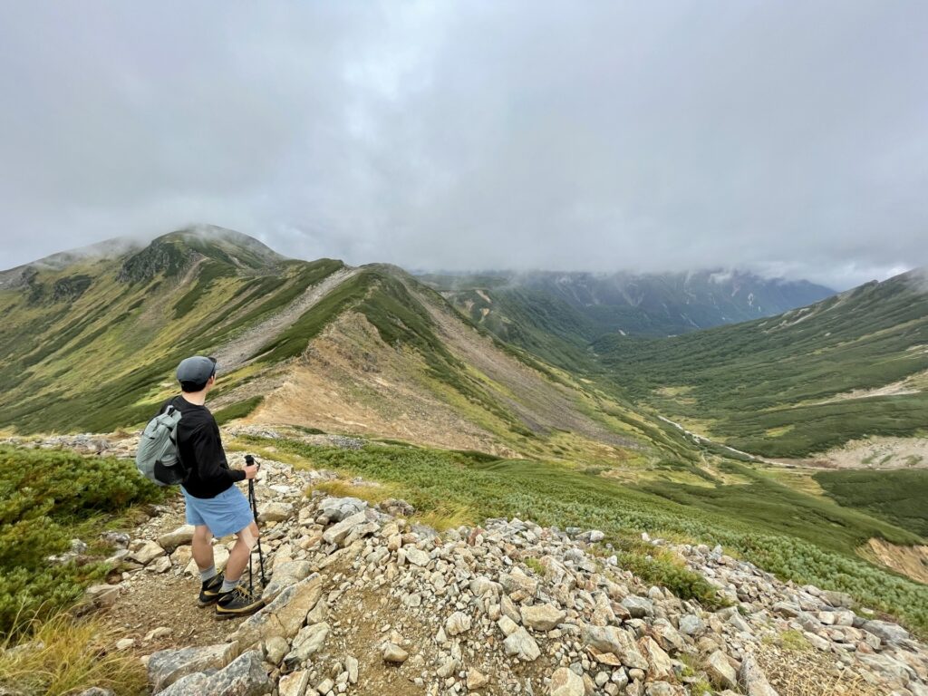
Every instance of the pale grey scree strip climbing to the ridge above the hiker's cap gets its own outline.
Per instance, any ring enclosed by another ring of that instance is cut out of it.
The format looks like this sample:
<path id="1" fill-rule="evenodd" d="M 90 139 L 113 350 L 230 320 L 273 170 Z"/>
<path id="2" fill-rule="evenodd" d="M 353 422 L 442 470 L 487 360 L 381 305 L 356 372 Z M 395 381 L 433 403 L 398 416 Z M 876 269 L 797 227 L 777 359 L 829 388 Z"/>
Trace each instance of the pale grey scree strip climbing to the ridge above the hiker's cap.
<path id="1" fill-rule="evenodd" d="M 277 312 L 274 316 L 269 316 L 260 324 L 251 327 L 248 331 L 236 336 L 218 348 L 213 349 L 213 357 L 216 358 L 216 364 L 222 372 L 229 373 L 238 367 L 243 367 L 251 362 L 251 356 L 256 354 L 263 345 L 273 341 L 277 336 L 288 329 L 290 325 L 300 316 L 320 303 L 332 290 L 335 290 L 343 282 L 357 275 L 357 268 L 341 268 L 315 285 L 311 285 L 300 297 L 293 300 L 290 304 Z"/>

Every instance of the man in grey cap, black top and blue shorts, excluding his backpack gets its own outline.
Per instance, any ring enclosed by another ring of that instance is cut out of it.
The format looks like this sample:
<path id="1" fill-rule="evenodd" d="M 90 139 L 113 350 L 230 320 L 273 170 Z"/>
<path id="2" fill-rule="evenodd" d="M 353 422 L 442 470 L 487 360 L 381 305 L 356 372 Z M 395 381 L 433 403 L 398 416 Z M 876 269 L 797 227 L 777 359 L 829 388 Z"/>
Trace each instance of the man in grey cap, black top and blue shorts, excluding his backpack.
<path id="1" fill-rule="evenodd" d="M 200 607 L 215 605 L 217 618 L 233 618 L 257 612 L 263 606 L 260 597 L 239 584 L 241 574 L 258 540 L 248 499 L 235 485 L 253 479 L 258 466 L 244 470 L 229 469 L 223 450 L 219 426 L 210 409 L 204 406 L 206 394 L 216 383 L 213 357 L 194 355 L 177 366 L 181 393 L 161 405 L 181 412 L 177 424 L 177 453 L 189 474 L 181 487 L 187 503 L 187 524 L 195 527 L 193 558 L 200 569 Z M 238 539 L 229 552 L 225 574 L 217 572 L 213 561 L 213 536 L 235 534 Z"/>

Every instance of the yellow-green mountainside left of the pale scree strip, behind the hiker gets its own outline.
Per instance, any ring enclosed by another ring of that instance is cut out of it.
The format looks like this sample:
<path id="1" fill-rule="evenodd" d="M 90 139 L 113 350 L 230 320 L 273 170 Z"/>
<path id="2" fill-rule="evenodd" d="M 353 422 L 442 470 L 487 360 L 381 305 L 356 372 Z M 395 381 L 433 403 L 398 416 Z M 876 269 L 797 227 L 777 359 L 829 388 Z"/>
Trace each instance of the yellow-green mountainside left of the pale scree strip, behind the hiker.
<path id="1" fill-rule="evenodd" d="M 0 428 L 101 432 L 148 419 L 183 357 L 234 340 L 342 267 L 268 265 L 237 245 L 177 233 L 156 242 L 157 254 L 41 271 L 39 290 L 0 292 Z M 186 278 L 195 253 L 203 258 Z M 53 289 L 75 276 L 92 282 L 55 301 Z"/>

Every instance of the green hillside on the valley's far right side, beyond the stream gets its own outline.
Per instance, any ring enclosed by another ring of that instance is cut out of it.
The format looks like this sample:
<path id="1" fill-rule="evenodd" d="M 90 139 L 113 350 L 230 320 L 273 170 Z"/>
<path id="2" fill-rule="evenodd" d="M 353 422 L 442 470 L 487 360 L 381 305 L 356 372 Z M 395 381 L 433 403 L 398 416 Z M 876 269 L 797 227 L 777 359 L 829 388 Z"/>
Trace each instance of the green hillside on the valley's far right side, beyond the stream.
<path id="1" fill-rule="evenodd" d="M 663 340 L 612 336 L 595 348 L 628 393 L 711 421 L 729 445 L 785 457 L 919 432 L 924 392 L 822 402 L 922 372 L 925 345 L 928 295 L 896 277 L 769 319 Z"/>

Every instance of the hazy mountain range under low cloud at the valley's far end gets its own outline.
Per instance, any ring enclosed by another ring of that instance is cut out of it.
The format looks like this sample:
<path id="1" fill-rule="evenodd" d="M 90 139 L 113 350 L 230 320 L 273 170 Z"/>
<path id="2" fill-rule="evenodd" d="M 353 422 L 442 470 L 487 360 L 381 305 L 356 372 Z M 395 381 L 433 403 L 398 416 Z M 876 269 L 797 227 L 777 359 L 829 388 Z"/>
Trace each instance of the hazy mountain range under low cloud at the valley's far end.
<path id="1" fill-rule="evenodd" d="M 779 314 L 834 294 L 806 281 L 734 271 L 494 272 L 419 279 L 500 340 L 568 368 L 589 368 L 587 343 L 608 333 L 688 333 Z"/>

